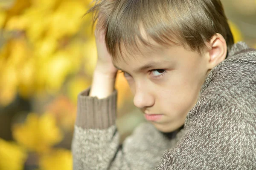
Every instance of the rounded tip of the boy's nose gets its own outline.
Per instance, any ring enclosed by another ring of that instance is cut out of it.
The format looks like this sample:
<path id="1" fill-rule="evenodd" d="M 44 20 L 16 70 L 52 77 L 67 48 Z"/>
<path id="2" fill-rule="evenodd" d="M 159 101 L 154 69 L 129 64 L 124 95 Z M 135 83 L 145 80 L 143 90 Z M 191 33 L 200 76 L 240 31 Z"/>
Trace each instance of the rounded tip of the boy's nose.
<path id="1" fill-rule="evenodd" d="M 154 97 L 143 90 L 137 90 L 134 95 L 134 105 L 138 108 L 151 107 L 154 105 Z"/>

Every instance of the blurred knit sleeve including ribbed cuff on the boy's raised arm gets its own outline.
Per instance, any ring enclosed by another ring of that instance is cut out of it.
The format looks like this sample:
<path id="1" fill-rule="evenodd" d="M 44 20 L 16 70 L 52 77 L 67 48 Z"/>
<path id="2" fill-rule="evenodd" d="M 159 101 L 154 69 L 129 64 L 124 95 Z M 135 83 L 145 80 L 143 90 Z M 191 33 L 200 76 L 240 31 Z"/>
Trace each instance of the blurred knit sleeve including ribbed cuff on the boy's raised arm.
<path id="1" fill-rule="evenodd" d="M 78 99 L 78 115 L 72 142 L 74 170 L 152 170 L 169 141 L 151 124 L 141 124 L 122 146 L 115 126 L 116 91 L 98 99 L 87 96 Z"/>

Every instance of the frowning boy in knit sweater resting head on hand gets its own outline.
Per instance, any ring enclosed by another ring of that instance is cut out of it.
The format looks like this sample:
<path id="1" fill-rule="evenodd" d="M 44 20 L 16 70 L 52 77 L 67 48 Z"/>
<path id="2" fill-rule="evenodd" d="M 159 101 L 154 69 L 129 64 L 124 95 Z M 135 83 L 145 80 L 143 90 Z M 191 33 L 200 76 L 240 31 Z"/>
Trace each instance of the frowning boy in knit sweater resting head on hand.
<path id="1" fill-rule="evenodd" d="M 256 169 L 256 51 L 220 0 L 96 0 L 98 62 L 79 94 L 74 170 Z M 119 145 L 117 69 L 148 123 Z"/>

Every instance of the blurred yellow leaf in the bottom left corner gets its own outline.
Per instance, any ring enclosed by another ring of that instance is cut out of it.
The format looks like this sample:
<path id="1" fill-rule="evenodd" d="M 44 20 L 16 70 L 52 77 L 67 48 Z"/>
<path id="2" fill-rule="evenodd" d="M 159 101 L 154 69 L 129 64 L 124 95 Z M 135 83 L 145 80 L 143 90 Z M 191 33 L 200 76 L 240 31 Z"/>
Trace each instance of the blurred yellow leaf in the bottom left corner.
<path id="1" fill-rule="evenodd" d="M 23 170 L 26 158 L 23 147 L 0 138 L 0 170 Z"/>

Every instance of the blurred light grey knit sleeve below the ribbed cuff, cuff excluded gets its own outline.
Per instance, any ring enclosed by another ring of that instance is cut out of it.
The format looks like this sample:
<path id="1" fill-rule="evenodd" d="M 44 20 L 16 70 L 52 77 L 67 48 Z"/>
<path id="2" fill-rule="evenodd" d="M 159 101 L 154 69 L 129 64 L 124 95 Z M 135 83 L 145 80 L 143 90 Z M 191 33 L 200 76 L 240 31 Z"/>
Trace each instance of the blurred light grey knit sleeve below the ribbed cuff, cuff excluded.
<path id="1" fill-rule="evenodd" d="M 148 123 L 137 127 L 122 145 L 114 125 L 105 130 L 76 126 L 73 170 L 153 170 L 163 152 L 176 143 L 177 138 L 169 141 Z"/>

